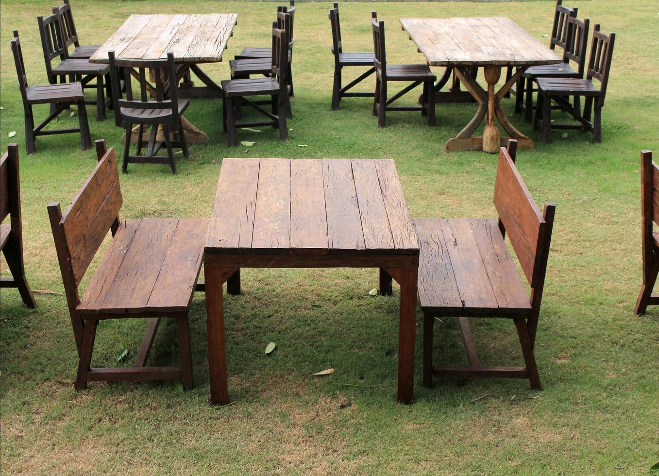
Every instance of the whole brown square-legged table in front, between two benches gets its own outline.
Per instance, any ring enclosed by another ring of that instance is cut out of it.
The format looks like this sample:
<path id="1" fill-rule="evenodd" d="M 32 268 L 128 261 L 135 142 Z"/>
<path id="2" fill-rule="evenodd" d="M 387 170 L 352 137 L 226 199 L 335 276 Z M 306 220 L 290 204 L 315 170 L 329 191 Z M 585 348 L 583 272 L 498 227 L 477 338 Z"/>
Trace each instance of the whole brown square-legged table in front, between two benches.
<path id="1" fill-rule="evenodd" d="M 240 268 L 380 268 L 383 294 L 396 280 L 398 400 L 412 403 L 418 256 L 393 160 L 224 159 L 204 250 L 212 403 L 228 401 L 222 284 L 240 293 Z"/>

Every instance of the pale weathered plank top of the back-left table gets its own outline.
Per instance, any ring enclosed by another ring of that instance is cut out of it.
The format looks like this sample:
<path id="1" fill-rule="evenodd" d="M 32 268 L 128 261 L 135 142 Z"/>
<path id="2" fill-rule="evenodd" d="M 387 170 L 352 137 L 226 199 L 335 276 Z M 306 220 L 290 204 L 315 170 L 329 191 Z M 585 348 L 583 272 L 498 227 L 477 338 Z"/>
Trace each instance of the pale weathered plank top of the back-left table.
<path id="1" fill-rule="evenodd" d="M 90 61 L 107 63 L 108 51 L 124 59 L 160 59 L 172 51 L 177 63 L 221 61 L 237 18 L 235 13 L 130 15 Z"/>

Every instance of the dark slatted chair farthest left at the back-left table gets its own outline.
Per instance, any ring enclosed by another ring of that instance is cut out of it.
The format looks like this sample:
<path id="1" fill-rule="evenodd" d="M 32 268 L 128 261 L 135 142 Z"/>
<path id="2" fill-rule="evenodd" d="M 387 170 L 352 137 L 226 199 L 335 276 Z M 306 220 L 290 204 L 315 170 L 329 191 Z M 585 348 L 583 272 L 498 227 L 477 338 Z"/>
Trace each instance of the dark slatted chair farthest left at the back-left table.
<path id="1" fill-rule="evenodd" d="M 43 86 L 28 86 L 28 79 L 25 74 L 25 63 L 23 63 L 23 53 L 20 47 L 20 38 L 18 30 L 14 30 L 14 38 L 11 40 L 11 51 L 14 55 L 16 65 L 16 74 L 18 75 L 18 88 L 23 100 L 23 109 L 25 111 L 25 149 L 28 154 L 36 152 L 36 137 L 51 134 L 69 134 L 80 133 L 82 150 L 87 150 L 92 146 L 92 136 L 89 132 L 87 122 L 87 110 L 84 105 L 84 94 L 80 82 L 69 82 L 63 84 L 46 84 Z M 34 113 L 32 105 L 50 104 L 51 109 L 48 117 L 34 127 Z M 55 117 L 59 116 L 71 104 L 78 106 L 78 123 L 80 127 L 74 129 L 48 129 L 47 126 Z"/>

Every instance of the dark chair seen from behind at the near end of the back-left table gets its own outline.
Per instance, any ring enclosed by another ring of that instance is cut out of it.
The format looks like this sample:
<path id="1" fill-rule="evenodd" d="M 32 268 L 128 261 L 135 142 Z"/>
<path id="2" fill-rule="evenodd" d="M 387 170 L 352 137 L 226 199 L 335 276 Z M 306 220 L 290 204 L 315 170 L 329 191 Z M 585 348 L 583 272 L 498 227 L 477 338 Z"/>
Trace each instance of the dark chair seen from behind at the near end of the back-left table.
<path id="1" fill-rule="evenodd" d="M 183 157 L 188 156 L 188 146 L 183 131 L 181 115 L 185 112 L 189 100 L 177 98 L 177 70 L 174 54 L 167 53 L 167 59 L 119 59 L 115 52 L 109 51 L 110 72 L 112 76 L 112 98 L 114 101 L 115 123 L 126 131 L 121 171 L 128 171 L 128 164 L 169 164 L 172 173 L 176 173 L 173 147 L 183 150 Z M 147 80 L 147 70 L 150 79 Z M 120 90 L 120 72 L 124 78 L 126 99 Z M 132 82 L 136 81 L 137 90 L 133 92 Z M 130 136 L 132 127 L 138 125 L 136 155 L 130 155 Z M 144 129 L 151 127 L 146 153 L 142 156 L 142 139 Z M 158 127 L 162 128 L 162 138 L 158 139 Z M 173 141 L 171 134 L 178 133 L 178 141 Z M 163 143 L 167 148 L 167 157 L 158 156 Z"/>

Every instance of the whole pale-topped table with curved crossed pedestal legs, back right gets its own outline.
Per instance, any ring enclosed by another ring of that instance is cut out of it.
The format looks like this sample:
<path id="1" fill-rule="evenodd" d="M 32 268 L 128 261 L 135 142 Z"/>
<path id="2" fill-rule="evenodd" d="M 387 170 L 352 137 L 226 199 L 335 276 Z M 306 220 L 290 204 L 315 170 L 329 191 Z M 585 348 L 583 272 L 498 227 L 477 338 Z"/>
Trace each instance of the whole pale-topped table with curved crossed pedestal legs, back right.
<path id="1" fill-rule="evenodd" d="M 533 141 L 522 134 L 510 121 L 501 99 L 531 66 L 561 63 L 554 51 L 530 36 L 513 20 L 503 16 L 476 18 L 401 18 L 401 25 L 430 66 L 453 67 L 465 88 L 478 102 L 478 111 L 457 136 L 446 142 L 446 152 L 455 150 L 484 150 L 498 152 L 508 138 L 500 136 L 494 117 L 501 127 L 517 139 L 521 148 L 532 148 Z M 484 90 L 469 74 L 469 69 L 483 67 L 487 89 Z M 501 77 L 502 67 L 516 67 L 515 74 L 494 90 Z M 485 119 L 482 137 L 472 137 Z"/>

